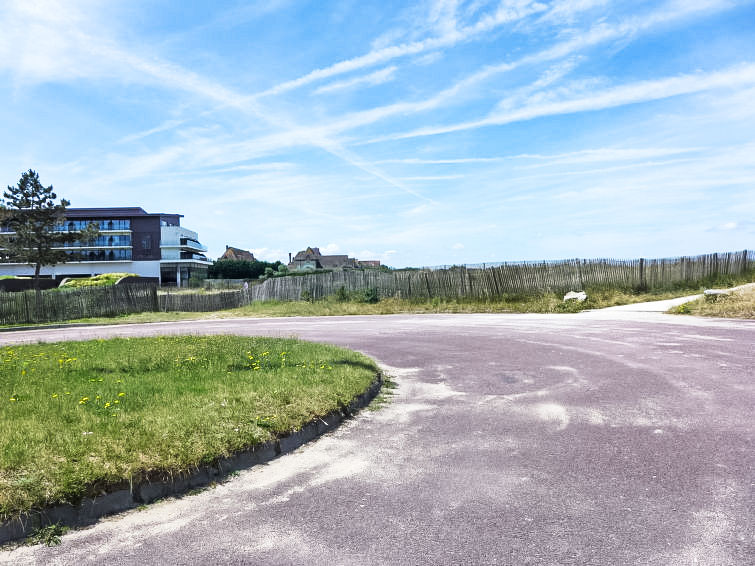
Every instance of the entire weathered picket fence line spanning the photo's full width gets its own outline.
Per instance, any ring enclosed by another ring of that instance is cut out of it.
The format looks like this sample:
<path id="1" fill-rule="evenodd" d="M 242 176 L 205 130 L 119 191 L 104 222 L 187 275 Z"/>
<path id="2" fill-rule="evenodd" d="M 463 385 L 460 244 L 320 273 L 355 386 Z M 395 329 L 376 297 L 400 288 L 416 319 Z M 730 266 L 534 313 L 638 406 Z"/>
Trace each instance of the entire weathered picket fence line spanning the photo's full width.
<path id="1" fill-rule="evenodd" d="M 340 288 L 374 288 L 380 298 L 496 299 L 505 295 L 579 291 L 595 287 L 662 290 L 715 284 L 752 273 L 752 251 L 638 260 L 564 260 L 453 266 L 406 271 L 333 271 L 276 277 L 248 289 L 219 292 L 159 292 L 154 285 L 115 285 L 42 291 L 0 292 L 0 324 L 54 322 L 146 311 L 217 311 L 252 301 L 322 299 Z"/>

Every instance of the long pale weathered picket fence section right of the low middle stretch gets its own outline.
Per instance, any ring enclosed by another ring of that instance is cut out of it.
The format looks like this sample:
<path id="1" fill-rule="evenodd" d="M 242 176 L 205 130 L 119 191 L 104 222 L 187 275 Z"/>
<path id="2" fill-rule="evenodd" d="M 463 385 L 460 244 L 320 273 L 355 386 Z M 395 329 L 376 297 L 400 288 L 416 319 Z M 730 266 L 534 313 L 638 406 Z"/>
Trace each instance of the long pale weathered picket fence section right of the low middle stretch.
<path id="1" fill-rule="evenodd" d="M 375 288 L 381 298 L 495 299 L 503 295 L 566 292 L 590 287 L 657 290 L 739 275 L 755 268 L 747 250 L 695 257 L 638 260 L 563 260 L 504 263 L 495 267 L 411 271 L 334 271 L 307 277 L 278 277 L 249 290 L 255 301 L 321 299 L 343 287 Z"/>

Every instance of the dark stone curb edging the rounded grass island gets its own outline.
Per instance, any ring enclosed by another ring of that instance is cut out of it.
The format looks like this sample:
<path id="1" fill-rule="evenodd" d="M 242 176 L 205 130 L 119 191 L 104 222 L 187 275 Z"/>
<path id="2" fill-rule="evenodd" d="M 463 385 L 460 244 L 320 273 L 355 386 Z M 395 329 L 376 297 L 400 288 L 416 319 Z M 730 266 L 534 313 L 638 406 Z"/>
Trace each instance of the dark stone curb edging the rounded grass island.
<path id="1" fill-rule="evenodd" d="M 144 480 L 131 486 L 121 486 L 120 489 L 114 489 L 101 497 L 84 498 L 78 505 L 56 505 L 2 522 L 0 545 L 26 538 L 40 527 L 56 523 L 67 527 L 92 525 L 107 515 L 127 511 L 170 495 L 181 495 L 189 490 L 210 485 L 231 472 L 265 464 L 337 428 L 359 409 L 369 405 L 377 396 L 383 382 L 383 374 L 379 371 L 367 390 L 357 395 L 348 405 L 323 417 L 315 417 L 297 431 L 257 444 L 232 456 L 220 458 L 214 464 L 199 466 L 188 474 L 156 481 Z"/>

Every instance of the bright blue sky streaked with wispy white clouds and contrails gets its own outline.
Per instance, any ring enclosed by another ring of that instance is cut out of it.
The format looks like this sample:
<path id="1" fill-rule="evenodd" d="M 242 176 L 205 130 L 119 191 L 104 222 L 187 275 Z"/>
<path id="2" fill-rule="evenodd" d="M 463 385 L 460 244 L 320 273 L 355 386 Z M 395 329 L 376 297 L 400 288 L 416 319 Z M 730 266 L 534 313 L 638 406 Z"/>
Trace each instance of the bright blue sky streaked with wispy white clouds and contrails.
<path id="1" fill-rule="evenodd" d="M 219 256 L 755 247 L 755 3 L 4 0 L 0 172 Z"/>

